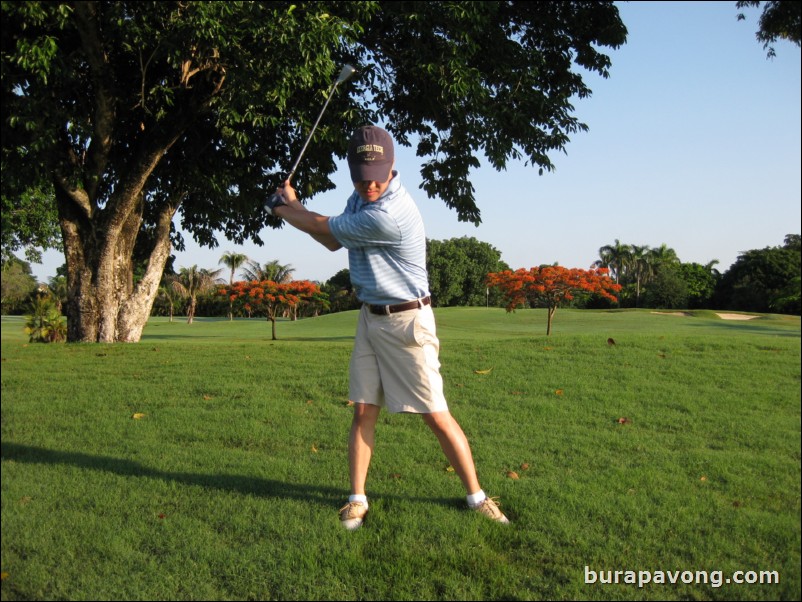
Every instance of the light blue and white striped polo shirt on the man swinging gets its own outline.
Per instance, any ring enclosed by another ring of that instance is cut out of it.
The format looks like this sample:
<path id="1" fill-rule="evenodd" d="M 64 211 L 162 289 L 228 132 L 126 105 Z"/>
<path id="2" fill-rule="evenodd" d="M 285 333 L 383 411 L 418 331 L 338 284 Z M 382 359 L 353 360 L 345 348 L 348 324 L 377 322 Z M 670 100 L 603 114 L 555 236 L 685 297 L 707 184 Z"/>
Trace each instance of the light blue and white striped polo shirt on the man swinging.
<path id="1" fill-rule="evenodd" d="M 360 301 L 393 305 L 429 294 L 423 219 L 397 171 L 374 202 L 365 202 L 355 190 L 345 211 L 329 218 L 329 227 L 348 249 L 351 283 Z"/>

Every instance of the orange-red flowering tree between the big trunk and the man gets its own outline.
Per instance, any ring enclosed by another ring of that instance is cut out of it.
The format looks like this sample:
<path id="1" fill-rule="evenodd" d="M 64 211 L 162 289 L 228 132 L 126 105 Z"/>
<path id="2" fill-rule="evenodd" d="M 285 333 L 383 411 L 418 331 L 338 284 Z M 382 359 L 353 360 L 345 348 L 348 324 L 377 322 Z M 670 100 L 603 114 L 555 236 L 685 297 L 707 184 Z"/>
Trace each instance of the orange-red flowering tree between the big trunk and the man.
<path id="1" fill-rule="evenodd" d="M 251 280 L 234 282 L 218 291 L 232 304 L 242 307 L 248 315 L 264 315 L 273 327 L 273 340 L 276 337 L 276 318 L 286 310 L 295 311 L 305 303 L 326 306 L 328 295 L 309 280 L 274 282 L 272 280 Z"/>

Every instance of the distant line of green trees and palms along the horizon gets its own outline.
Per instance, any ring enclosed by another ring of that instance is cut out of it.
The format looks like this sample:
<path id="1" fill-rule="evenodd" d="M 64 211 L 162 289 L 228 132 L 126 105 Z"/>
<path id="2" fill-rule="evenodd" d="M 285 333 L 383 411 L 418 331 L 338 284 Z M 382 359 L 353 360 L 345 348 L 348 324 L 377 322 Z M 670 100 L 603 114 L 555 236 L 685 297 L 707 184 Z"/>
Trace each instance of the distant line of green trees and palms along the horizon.
<path id="1" fill-rule="evenodd" d="M 802 242 L 799 234 L 789 234 L 781 246 L 744 251 L 730 268 L 720 273 L 718 260 L 702 265 L 683 263 L 674 249 L 624 244 L 619 240 L 599 249 L 599 259 L 589 267 L 604 267 L 621 286 L 617 301 L 590 295 L 577 298 L 567 307 L 640 307 L 652 309 L 718 309 L 800 315 L 800 273 Z M 152 315 L 253 317 L 245 305 L 235 307 L 230 298 L 219 294 L 220 285 L 233 285 L 237 270 L 244 281 L 293 281 L 294 269 L 276 260 L 260 264 L 244 255 L 226 253 L 220 260 L 229 268 L 229 278 L 221 269 L 198 266 L 176 272 L 169 262 Z M 427 268 L 436 307 L 503 307 L 501 292 L 487 285 L 487 275 L 513 266 L 501 259 L 501 252 L 473 237 L 427 241 Z M 135 273 L 137 270 L 135 269 Z M 303 317 L 348 311 L 359 307 L 347 269 L 329 280 L 317 283 L 327 304 L 303 304 L 288 317 Z M 2 265 L 2 313 L 31 312 L 46 297 L 59 311 L 66 300 L 64 268 L 47 283 L 38 283 L 30 265 L 11 257 Z"/>

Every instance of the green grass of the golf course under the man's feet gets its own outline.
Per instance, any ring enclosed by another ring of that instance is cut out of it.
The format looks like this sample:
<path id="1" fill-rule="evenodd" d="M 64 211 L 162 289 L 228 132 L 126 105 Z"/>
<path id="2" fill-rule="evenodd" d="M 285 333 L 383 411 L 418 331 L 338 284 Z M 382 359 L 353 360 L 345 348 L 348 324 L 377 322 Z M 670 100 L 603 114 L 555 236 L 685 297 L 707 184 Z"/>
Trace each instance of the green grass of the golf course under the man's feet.
<path id="1" fill-rule="evenodd" d="M 108 346 L 28 344 L 4 317 L 2 599 L 802 597 L 798 317 L 560 310 L 546 337 L 541 310 L 436 312 L 506 527 L 465 510 L 419 418 L 388 414 L 369 518 L 339 526 L 353 312 L 278 341 L 264 320 L 154 319 Z"/>

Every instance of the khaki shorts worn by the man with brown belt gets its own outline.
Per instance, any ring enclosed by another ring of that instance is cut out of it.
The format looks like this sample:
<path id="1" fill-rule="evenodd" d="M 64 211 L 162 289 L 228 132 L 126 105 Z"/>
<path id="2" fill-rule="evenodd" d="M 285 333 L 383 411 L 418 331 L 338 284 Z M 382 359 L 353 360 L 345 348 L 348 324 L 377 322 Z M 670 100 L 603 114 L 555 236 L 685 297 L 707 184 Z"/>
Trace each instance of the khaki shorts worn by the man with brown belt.
<path id="1" fill-rule="evenodd" d="M 351 401 L 393 413 L 448 410 L 439 352 L 431 306 L 381 316 L 363 306 L 351 354 Z"/>

